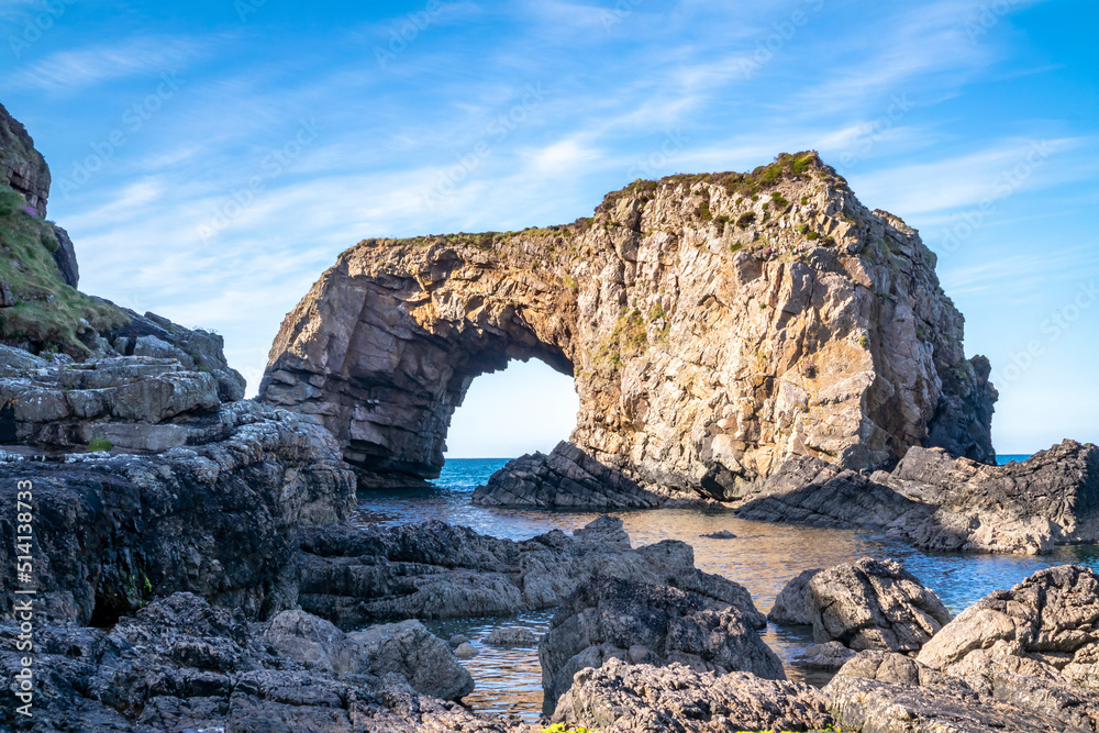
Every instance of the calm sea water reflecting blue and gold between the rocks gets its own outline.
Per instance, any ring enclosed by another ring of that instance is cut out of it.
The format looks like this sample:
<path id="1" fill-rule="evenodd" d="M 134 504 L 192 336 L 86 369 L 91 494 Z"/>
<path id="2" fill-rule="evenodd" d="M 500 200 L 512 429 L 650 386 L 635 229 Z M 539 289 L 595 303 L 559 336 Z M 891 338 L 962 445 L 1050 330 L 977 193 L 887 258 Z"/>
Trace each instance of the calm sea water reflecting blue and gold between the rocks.
<path id="1" fill-rule="evenodd" d="M 1025 456 L 1003 456 L 1022 459 Z M 363 496 L 356 522 L 363 526 L 389 526 L 439 519 L 470 526 L 498 537 L 525 540 L 560 529 L 565 532 L 584 526 L 600 512 L 565 512 L 474 507 L 474 488 L 504 459 L 448 460 L 443 475 L 430 489 L 409 492 L 374 492 Z M 864 555 L 891 557 L 932 588 L 952 613 L 957 613 L 989 592 L 1010 588 L 1036 570 L 1051 565 L 1075 563 L 1099 569 L 1099 547 L 1058 547 L 1052 555 L 963 555 L 928 553 L 887 537 L 853 530 L 822 530 L 787 524 L 748 522 L 729 512 L 692 509 L 658 509 L 612 512 L 622 519 L 633 545 L 662 540 L 681 540 L 695 548 L 696 565 L 707 573 L 722 575 L 748 589 L 761 611 L 768 611 L 775 596 L 790 578 L 802 570 L 846 563 Z M 735 540 L 702 537 L 729 530 Z M 497 626 L 526 626 L 536 635 L 548 629 L 552 612 L 531 613 L 506 619 L 465 619 L 430 622 L 434 633 L 449 638 L 455 633 L 469 636 L 478 655 L 464 660 L 477 689 L 465 699 L 475 710 L 518 714 L 537 719 L 542 708 L 542 671 L 537 649 L 496 649 L 480 638 Z M 769 625 L 764 640 L 784 659 L 790 659 L 812 643 L 811 632 Z M 809 682 L 804 671 L 787 667 L 791 679 Z"/>

